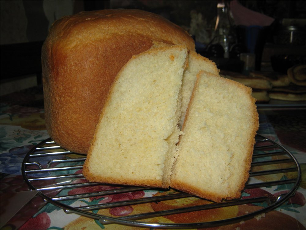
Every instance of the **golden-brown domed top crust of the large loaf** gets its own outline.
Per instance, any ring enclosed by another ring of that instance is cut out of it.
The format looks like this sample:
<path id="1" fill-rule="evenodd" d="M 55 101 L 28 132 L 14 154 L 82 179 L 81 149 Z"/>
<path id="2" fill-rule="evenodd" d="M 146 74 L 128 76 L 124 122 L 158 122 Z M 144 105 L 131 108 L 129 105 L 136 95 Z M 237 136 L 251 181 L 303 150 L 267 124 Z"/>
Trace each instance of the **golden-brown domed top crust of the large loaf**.
<path id="1" fill-rule="evenodd" d="M 164 17 L 142 10 L 82 11 L 65 16 L 54 22 L 47 41 L 71 48 L 100 39 L 112 39 L 113 34 L 127 33 L 157 37 L 158 41 L 168 43 L 175 41 L 177 44 L 185 44 L 189 50 L 195 49 L 193 39 L 181 27 Z M 162 37 L 162 34 L 166 36 Z"/>

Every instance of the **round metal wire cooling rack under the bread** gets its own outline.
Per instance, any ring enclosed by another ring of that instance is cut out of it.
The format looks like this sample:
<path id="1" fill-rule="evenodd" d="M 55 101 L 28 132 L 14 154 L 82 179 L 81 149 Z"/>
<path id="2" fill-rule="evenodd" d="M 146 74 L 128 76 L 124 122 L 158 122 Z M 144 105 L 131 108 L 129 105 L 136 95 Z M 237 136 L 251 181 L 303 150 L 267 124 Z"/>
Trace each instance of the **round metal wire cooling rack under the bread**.
<path id="1" fill-rule="evenodd" d="M 283 146 L 261 135 L 256 135 L 250 177 L 241 198 L 219 203 L 173 189 L 91 183 L 81 171 L 85 159 L 86 155 L 66 151 L 47 139 L 25 156 L 22 174 L 31 190 L 38 190 L 45 201 L 64 209 L 66 213 L 91 217 L 101 224 L 168 229 L 215 227 L 256 218 L 281 205 L 287 205 L 285 202 L 295 194 L 301 180 L 300 166 L 295 157 Z M 105 201 L 114 196 L 124 198 Z M 137 205 L 144 204 L 151 205 L 151 211 L 132 212 L 131 215 L 120 217 L 110 214 L 110 209 L 137 209 Z M 222 213 L 222 210 L 228 213 L 231 208 L 243 208 L 245 212 L 234 216 L 216 214 Z M 210 217 L 212 210 L 214 215 Z M 200 216 L 205 216 L 205 220 L 197 219 L 199 212 Z M 184 219 L 187 213 L 189 221 L 186 219 L 185 223 L 170 221 L 175 215 L 181 215 L 180 218 Z M 195 218 L 190 215 L 195 215 Z M 156 218 L 161 217 L 167 223 L 160 223 L 160 220 L 156 222 Z"/>

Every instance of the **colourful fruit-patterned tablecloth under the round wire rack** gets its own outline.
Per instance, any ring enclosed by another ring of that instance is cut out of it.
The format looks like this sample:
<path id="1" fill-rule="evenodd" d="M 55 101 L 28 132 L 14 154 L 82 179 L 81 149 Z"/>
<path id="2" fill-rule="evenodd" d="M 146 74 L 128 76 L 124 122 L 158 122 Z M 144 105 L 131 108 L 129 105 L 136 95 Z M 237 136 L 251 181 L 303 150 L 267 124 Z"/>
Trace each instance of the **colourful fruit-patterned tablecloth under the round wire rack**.
<path id="1" fill-rule="evenodd" d="M 306 229 L 306 108 L 300 109 L 258 109 L 260 128 L 258 133 L 283 145 L 298 160 L 302 181 L 295 195 L 273 211 L 260 217 L 239 223 L 218 226 L 207 229 Z M 27 152 L 47 139 L 48 133 L 44 122 L 43 94 L 41 87 L 35 87 L 1 98 L 1 218 L 10 204 L 13 194 L 22 194 L 29 190 L 23 181 L 21 163 Z M 152 191 L 149 191 L 152 193 Z M 72 192 L 73 193 L 73 192 Z M 277 191 L 273 192 L 277 193 Z M 245 195 L 245 194 L 244 194 Z M 130 192 L 103 197 L 103 202 L 111 200 L 127 200 L 130 197 L 145 197 L 144 191 Z M 95 197 L 92 198 L 95 200 Z M 99 200 L 101 202 L 102 200 Z M 171 203 L 169 204 L 171 205 Z M 172 204 L 173 205 L 173 204 Z M 248 207 L 252 209 L 252 207 Z M 254 209 L 256 207 L 254 206 Z M 139 205 L 139 209 L 155 210 L 154 204 Z M 124 216 L 136 212 L 132 207 L 107 209 L 106 214 Z M 245 210 L 225 209 L 223 213 L 234 217 Z M 173 223 L 191 218 L 192 222 L 206 221 L 202 214 L 181 215 L 180 220 L 170 216 L 159 217 L 158 222 Z M 4 223 L 2 223 L 3 225 Z M 66 214 L 62 209 L 50 203 L 43 202 L 35 196 L 1 229 L 138 229 L 118 224 L 102 225 L 99 221 Z"/>

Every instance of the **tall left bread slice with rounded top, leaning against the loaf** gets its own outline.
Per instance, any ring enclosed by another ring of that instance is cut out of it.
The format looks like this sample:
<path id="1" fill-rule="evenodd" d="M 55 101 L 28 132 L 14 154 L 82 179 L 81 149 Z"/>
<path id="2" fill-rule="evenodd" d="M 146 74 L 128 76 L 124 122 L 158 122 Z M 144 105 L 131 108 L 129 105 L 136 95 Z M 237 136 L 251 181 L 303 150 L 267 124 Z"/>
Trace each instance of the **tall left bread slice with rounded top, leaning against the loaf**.
<path id="1" fill-rule="evenodd" d="M 183 45 L 150 49 L 121 69 L 84 163 L 89 181 L 169 187 L 187 53 Z"/>

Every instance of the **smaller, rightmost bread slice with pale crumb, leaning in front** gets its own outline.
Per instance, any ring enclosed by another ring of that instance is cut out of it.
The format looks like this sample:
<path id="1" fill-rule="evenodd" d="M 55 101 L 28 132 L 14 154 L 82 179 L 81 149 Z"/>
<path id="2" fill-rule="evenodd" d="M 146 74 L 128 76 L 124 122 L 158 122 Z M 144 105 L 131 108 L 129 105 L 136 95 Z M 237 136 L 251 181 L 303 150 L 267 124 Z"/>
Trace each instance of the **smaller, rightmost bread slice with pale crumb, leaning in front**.
<path id="1" fill-rule="evenodd" d="M 251 92 L 219 75 L 197 75 L 171 187 L 216 202 L 240 197 L 259 127 Z"/>

